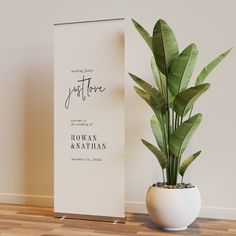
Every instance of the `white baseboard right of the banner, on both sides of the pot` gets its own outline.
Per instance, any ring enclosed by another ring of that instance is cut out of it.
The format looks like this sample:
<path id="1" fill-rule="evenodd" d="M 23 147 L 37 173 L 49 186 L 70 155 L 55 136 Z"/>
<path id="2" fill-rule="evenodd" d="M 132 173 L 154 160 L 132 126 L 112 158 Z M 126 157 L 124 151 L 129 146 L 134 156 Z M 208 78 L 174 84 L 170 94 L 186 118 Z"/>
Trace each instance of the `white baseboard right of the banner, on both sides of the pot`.
<path id="1" fill-rule="evenodd" d="M 125 203 L 125 210 L 133 213 L 147 213 L 145 202 L 127 201 Z M 199 217 L 236 220 L 236 208 L 202 206 Z"/>

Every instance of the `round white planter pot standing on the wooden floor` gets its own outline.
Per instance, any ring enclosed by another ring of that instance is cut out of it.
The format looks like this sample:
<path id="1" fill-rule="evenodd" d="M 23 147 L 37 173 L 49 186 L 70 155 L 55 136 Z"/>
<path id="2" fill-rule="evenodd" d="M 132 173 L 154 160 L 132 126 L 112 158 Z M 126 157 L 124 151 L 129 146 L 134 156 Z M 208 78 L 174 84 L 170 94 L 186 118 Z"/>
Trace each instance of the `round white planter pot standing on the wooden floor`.
<path id="1" fill-rule="evenodd" d="M 167 189 L 150 187 L 146 206 L 152 220 L 165 230 L 184 230 L 198 216 L 201 196 L 197 187 Z"/>

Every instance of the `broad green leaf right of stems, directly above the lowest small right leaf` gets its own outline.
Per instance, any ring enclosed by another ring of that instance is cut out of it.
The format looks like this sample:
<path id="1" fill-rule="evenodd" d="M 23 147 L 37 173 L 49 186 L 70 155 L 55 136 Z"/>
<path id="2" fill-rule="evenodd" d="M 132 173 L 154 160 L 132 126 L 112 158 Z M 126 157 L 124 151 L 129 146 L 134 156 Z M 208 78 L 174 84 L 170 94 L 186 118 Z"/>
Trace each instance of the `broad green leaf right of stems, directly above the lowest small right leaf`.
<path id="1" fill-rule="evenodd" d="M 170 151 L 172 154 L 181 157 L 193 133 L 199 126 L 202 114 L 198 113 L 182 123 L 170 136 Z"/>

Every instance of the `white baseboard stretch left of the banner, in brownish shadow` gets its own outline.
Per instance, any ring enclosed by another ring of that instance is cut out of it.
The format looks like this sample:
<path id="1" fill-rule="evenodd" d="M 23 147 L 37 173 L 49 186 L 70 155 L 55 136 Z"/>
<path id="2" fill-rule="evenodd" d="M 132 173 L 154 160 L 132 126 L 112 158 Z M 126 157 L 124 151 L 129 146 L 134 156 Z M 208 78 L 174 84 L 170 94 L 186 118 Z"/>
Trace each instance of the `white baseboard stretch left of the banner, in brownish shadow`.
<path id="1" fill-rule="evenodd" d="M 52 196 L 0 193 L 1 203 L 23 204 L 32 206 L 53 206 Z"/>

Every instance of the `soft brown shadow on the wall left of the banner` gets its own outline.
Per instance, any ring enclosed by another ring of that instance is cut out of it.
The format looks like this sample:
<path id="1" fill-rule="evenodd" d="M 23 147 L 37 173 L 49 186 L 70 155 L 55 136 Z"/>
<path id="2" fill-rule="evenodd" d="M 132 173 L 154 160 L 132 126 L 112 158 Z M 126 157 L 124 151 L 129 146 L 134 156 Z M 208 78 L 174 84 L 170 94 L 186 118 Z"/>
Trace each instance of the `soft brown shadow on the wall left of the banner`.
<path id="1" fill-rule="evenodd" d="M 53 62 L 45 56 L 48 51 L 31 48 L 25 68 L 24 192 L 36 195 L 26 204 L 47 205 L 53 195 Z"/>

